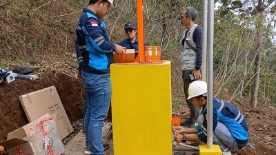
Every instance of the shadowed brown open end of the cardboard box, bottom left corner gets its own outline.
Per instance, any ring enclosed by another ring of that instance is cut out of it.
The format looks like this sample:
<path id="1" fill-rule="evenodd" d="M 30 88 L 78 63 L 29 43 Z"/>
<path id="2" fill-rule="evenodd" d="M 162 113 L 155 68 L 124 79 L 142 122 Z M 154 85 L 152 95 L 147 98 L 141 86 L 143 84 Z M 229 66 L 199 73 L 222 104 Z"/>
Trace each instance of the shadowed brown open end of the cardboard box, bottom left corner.
<path id="1" fill-rule="evenodd" d="M 30 142 L 21 138 L 12 138 L 7 141 L 2 141 L 0 145 L 5 147 L 9 155 L 34 155 Z"/>

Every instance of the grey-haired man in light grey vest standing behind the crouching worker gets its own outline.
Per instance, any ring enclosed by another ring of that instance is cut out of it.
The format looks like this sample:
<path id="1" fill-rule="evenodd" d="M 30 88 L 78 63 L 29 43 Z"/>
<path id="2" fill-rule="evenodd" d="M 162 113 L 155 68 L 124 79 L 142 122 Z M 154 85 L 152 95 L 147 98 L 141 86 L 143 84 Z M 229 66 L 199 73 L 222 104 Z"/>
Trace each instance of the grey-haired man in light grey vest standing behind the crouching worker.
<path id="1" fill-rule="evenodd" d="M 195 23 L 197 19 L 197 10 L 192 7 L 186 8 L 181 12 L 181 25 L 186 27 L 184 36 L 181 39 L 181 70 L 184 83 L 184 94 L 188 107 L 190 108 L 190 117 L 181 122 L 181 126 L 193 127 L 199 116 L 199 108 L 193 105 L 188 98 L 188 87 L 191 82 L 201 78 L 201 33 L 202 27 Z"/>

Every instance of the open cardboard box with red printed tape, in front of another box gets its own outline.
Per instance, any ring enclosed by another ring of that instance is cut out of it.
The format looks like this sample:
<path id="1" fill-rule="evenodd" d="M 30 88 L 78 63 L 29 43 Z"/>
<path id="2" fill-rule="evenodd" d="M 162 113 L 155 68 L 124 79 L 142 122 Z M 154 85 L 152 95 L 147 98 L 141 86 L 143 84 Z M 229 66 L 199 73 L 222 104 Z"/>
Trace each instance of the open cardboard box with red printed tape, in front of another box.
<path id="1" fill-rule="evenodd" d="M 57 124 L 50 114 L 10 132 L 8 141 L 1 143 L 8 148 L 9 154 L 60 155 L 64 152 Z"/>

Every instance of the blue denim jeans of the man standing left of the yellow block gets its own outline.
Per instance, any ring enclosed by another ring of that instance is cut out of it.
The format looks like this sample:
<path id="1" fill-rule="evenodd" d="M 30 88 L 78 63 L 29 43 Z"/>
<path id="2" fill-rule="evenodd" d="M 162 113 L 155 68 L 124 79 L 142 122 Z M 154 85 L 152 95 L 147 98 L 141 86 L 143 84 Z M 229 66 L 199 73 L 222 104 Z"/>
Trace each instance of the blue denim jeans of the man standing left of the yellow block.
<path id="1" fill-rule="evenodd" d="M 102 127 L 111 99 L 110 74 L 91 74 L 81 71 L 88 107 L 84 117 L 86 143 L 93 155 L 103 154 Z"/>

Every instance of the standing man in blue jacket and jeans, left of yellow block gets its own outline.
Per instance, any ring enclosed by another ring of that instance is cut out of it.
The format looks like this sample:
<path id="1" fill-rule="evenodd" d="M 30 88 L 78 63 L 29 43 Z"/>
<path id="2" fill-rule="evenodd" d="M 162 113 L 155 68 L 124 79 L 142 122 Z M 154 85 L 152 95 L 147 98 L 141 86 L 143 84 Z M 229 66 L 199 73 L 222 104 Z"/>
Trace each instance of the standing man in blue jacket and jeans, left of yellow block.
<path id="1" fill-rule="evenodd" d="M 110 64 L 112 52 L 121 55 L 126 48 L 108 39 L 106 23 L 101 21 L 108 13 L 113 0 L 90 0 L 83 9 L 76 30 L 77 46 L 81 51 L 81 78 L 86 91 L 88 107 L 84 118 L 87 154 L 102 155 L 102 126 L 110 106 Z"/>

